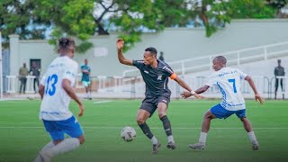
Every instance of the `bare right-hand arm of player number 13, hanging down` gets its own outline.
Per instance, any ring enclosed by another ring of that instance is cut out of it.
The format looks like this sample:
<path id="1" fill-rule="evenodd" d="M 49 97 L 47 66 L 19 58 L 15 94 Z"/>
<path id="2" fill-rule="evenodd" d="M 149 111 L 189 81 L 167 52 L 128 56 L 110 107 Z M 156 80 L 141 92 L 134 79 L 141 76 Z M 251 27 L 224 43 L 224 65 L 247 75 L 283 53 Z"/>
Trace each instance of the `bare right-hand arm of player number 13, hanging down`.
<path id="1" fill-rule="evenodd" d="M 82 104 L 82 102 L 79 100 L 79 98 L 77 97 L 77 95 L 75 94 L 72 86 L 71 86 L 71 82 L 68 79 L 63 79 L 62 81 L 62 87 L 63 89 L 66 91 L 66 93 L 74 100 L 76 101 L 76 103 L 78 103 L 78 107 L 80 109 L 80 112 L 78 113 L 78 116 L 82 116 L 83 112 L 84 112 L 84 106 Z"/>

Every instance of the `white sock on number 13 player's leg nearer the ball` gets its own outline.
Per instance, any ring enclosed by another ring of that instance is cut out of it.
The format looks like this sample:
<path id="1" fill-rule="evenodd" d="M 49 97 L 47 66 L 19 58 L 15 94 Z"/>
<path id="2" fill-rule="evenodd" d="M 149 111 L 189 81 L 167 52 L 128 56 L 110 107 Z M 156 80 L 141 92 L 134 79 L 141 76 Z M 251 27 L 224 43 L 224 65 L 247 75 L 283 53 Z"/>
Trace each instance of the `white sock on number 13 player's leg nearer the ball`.
<path id="1" fill-rule="evenodd" d="M 45 152 L 49 155 L 49 157 L 54 157 L 58 154 L 66 153 L 70 150 L 78 148 L 80 146 L 79 139 L 76 138 L 68 138 L 64 139 L 58 145 L 53 148 L 49 148 Z"/>

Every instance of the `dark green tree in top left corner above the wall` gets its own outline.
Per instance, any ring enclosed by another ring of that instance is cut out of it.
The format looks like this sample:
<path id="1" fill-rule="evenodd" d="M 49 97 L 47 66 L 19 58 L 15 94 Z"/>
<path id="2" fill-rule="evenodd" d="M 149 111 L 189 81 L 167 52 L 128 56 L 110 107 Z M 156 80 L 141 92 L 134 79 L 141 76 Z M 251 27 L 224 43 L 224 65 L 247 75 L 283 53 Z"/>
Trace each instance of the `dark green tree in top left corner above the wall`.
<path id="1" fill-rule="evenodd" d="M 31 0 L 0 1 L 0 31 L 4 48 L 8 46 L 9 35 L 18 34 L 21 40 L 44 39 L 48 22 L 32 14 L 35 5 Z"/>

